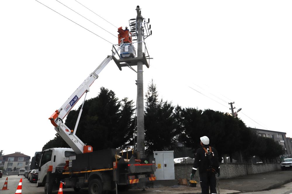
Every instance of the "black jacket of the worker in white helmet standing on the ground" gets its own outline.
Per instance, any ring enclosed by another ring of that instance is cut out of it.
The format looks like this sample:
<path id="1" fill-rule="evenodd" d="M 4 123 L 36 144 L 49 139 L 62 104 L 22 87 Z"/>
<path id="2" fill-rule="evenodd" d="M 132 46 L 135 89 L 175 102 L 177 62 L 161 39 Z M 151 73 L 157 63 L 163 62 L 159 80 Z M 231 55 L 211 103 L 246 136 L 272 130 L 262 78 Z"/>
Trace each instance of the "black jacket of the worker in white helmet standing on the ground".
<path id="1" fill-rule="evenodd" d="M 209 146 L 204 146 L 206 149 L 209 149 Z M 213 147 L 211 147 L 212 149 L 212 168 L 214 170 L 216 170 L 216 172 L 218 174 L 220 174 L 220 166 L 219 166 L 219 161 L 218 161 L 218 153 L 217 150 Z M 196 155 L 195 155 L 195 161 L 193 164 L 193 170 L 192 173 L 195 173 L 196 170 L 199 168 L 199 173 L 205 173 L 207 172 L 207 170 L 210 170 L 210 162 L 208 159 L 208 156 L 205 152 L 205 150 L 203 149 L 203 147 L 197 149 L 196 151 Z"/>

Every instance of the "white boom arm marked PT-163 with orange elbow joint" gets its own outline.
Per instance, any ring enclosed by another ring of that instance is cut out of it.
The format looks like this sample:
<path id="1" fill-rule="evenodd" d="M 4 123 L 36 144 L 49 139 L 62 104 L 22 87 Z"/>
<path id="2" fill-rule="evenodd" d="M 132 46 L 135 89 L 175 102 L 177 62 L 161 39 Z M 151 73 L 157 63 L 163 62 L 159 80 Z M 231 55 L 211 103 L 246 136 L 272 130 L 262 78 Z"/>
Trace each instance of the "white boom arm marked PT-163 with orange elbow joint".
<path id="1" fill-rule="evenodd" d="M 120 50 L 120 49 L 118 49 Z M 118 52 L 117 50 L 117 52 Z M 63 119 L 72 109 L 72 107 L 77 103 L 77 101 L 82 97 L 85 92 L 89 91 L 89 87 L 98 78 L 99 73 L 103 68 L 113 59 L 113 56 L 107 56 L 106 59 L 94 70 L 84 82 L 73 92 L 73 94 L 68 98 L 68 100 L 61 106 L 60 109 L 56 110 L 51 117 L 49 117 L 57 133 L 65 140 L 65 142 L 75 151 L 76 154 L 82 154 L 85 144 L 72 133 L 71 130 L 63 124 Z"/>

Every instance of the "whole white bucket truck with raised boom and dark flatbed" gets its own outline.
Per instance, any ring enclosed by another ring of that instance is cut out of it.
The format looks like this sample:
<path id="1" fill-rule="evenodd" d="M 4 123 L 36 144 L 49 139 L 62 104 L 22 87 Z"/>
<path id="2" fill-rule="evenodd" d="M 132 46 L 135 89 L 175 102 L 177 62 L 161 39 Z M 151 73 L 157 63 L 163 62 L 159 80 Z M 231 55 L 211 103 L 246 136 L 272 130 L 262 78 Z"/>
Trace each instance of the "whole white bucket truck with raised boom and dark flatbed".
<path id="1" fill-rule="evenodd" d="M 39 175 L 37 186 L 44 186 L 46 194 L 58 190 L 60 181 L 65 182 L 63 188 L 88 187 L 90 194 L 101 194 L 118 187 L 127 188 L 130 184 L 156 180 L 155 158 L 135 158 L 134 151 L 127 154 L 118 149 L 93 151 L 76 136 L 77 125 L 82 113 L 80 110 L 74 130 L 63 123 L 63 119 L 82 95 L 98 78 L 99 73 L 122 48 L 106 57 L 84 82 L 73 92 L 65 103 L 56 110 L 49 120 L 57 133 L 71 148 L 51 148 L 37 154 Z M 122 51 L 121 51 L 122 52 Z M 125 54 L 125 52 L 122 52 Z M 84 99 L 85 101 L 85 99 Z M 83 102 L 84 103 L 84 102 Z M 82 104 L 83 107 L 83 104 Z"/>

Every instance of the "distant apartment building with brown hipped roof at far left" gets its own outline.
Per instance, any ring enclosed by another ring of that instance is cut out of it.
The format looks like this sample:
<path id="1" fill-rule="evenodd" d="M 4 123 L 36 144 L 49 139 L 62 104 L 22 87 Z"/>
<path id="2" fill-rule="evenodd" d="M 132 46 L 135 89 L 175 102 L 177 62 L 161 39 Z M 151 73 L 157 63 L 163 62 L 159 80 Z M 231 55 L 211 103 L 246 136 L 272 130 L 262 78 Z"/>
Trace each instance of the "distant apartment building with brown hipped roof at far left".
<path id="1" fill-rule="evenodd" d="M 21 152 L 15 152 L 14 154 L 3 155 L 3 160 L 1 166 L 4 167 L 4 170 L 13 171 L 14 167 L 16 172 L 20 168 L 27 169 L 29 167 L 30 156 L 22 154 Z"/>

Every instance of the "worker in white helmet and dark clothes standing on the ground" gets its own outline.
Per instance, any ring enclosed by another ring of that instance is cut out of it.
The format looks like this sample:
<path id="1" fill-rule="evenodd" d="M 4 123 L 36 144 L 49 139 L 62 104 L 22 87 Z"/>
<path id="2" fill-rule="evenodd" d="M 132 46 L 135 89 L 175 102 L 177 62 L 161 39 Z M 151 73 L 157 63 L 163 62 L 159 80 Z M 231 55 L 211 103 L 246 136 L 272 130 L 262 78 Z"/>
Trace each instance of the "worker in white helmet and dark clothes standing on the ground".
<path id="1" fill-rule="evenodd" d="M 207 136 L 200 137 L 200 140 L 201 148 L 196 151 L 191 179 L 193 179 L 196 170 L 199 168 L 202 194 L 209 194 L 209 187 L 211 194 L 217 193 L 216 174 L 218 177 L 220 176 L 217 150 L 209 146 L 209 138 Z"/>

